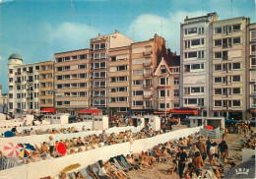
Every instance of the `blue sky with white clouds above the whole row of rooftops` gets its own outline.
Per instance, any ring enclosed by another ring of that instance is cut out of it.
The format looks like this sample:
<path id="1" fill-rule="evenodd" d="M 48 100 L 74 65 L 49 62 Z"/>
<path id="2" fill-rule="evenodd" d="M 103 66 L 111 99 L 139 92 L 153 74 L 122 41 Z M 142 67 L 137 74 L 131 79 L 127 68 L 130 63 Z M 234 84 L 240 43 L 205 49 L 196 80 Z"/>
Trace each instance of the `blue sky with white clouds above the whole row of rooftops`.
<path id="1" fill-rule="evenodd" d="M 185 17 L 213 12 L 255 23 L 254 0 L 0 0 L 0 85 L 7 92 L 12 53 L 24 64 L 54 60 L 54 53 L 89 48 L 90 38 L 114 30 L 134 41 L 158 33 L 179 54 Z"/>

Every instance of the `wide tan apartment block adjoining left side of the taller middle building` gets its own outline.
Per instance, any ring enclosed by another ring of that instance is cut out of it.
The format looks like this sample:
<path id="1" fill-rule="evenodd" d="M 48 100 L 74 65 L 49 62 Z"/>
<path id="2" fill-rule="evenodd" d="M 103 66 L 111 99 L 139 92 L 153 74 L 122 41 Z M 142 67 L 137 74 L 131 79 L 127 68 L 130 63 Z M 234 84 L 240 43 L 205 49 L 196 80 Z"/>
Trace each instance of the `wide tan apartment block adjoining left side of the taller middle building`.
<path id="1" fill-rule="evenodd" d="M 55 53 L 55 109 L 72 115 L 89 107 L 90 50 Z"/>

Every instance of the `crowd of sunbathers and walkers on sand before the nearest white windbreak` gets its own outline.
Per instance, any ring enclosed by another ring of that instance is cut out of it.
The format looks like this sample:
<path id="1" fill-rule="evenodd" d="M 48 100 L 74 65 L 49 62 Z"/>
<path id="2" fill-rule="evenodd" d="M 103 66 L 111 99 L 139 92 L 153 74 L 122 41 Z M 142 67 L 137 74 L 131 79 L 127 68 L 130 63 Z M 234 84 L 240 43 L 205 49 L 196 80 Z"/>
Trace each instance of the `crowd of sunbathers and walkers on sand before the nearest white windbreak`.
<path id="1" fill-rule="evenodd" d="M 255 145 L 255 133 L 252 131 L 245 140 L 254 140 Z M 176 175 L 185 179 L 223 178 L 223 164 L 232 167 L 240 162 L 233 158 L 230 151 L 224 139 L 220 144 L 217 144 L 211 137 L 206 138 L 200 134 L 195 134 L 160 144 L 141 153 L 128 154 L 125 161 L 118 160 L 119 156 L 116 156 L 118 163 L 112 158 L 105 162 L 96 162 L 95 167 L 97 167 L 98 173 L 92 172 L 90 166 L 86 170 L 91 173 L 92 177 L 97 174 L 99 178 L 129 178 L 129 169 L 131 168 L 152 169 L 160 162 L 164 162 L 170 164 L 165 172 L 166 175 Z M 235 157 L 237 156 L 235 155 Z M 125 162 L 128 163 L 128 166 Z M 86 178 L 80 171 L 71 173 L 73 176 L 77 176 L 76 178 Z M 65 175 L 67 173 L 60 174 L 60 176 Z M 69 175 L 71 174 L 69 173 Z"/>

